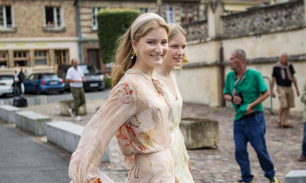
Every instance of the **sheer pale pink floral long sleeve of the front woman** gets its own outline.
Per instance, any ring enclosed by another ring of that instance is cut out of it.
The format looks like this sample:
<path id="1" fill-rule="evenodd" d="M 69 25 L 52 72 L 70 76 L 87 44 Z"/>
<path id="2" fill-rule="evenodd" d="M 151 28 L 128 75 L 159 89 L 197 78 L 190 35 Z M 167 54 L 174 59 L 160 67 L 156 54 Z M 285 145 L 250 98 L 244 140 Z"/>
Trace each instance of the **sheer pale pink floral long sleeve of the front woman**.
<path id="1" fill-rule="evenodd" d="M 118 83 L 110 92 L 98 112 L 84 127 L 79 145 L 73 152 L 69 177 L 74 183 L 92 183 L 95 173 L 115 132 L 134 114 L 136 101 L 134 91 L 127 82 Z"/>

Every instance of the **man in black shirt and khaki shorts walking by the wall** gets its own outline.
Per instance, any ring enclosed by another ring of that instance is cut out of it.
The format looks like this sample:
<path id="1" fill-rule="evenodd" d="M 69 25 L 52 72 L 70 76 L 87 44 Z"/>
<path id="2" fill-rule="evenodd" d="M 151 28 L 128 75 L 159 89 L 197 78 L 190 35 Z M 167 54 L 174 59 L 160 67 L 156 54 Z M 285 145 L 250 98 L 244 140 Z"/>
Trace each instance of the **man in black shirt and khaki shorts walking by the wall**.
<path id="1" fill-rule="evenodd" d="M 300 91 L 297 86 L 297 79 L 295 78 L 294 67 L 290 62 L 288 62 L 287 53 L 282 53 L 280 55 L 280 61 L 277 64 L 275 64 L 273 67 L 273 74 L 271 81 L 272 97 L 275 97 L 275 93 L 273 91 L 275 81 L 277 84 L 278 98 L 281 105 L 276 123 L 280 128 L 281 127 L 293 128 L 292 125 L 288 124 L 289 109 L 295 106 L 294 92 L 291 86 L 292 82 L 297 91 L 297 96 L 300 96 Z M 283 121 L 284 123 L 282 122 L 283 113 L 285 113 Z"/>

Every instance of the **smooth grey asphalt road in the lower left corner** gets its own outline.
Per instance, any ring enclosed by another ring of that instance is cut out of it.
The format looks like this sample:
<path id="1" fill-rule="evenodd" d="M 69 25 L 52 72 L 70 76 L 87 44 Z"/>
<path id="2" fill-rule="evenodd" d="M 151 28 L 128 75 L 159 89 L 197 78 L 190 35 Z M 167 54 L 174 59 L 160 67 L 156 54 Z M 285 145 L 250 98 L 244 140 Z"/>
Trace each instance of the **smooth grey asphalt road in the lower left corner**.
<path id="1" fill-rule="evenodd" d="M 0 123 L 0 182 L 68 183 L 69 162 Z"/>

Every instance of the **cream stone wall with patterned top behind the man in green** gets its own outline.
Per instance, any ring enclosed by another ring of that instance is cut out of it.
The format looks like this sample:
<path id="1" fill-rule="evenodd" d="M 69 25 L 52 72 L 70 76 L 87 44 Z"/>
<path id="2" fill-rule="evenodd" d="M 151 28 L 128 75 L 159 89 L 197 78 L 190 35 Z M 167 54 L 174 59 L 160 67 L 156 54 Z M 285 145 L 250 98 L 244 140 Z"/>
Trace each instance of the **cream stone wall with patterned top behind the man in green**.
<path id="1" fill-rule="evenodd" d="M 281 52 L 287 52 L 296 70 L 298 86 L 306 75 L 306 3 L 295 0 L 247 12 L 225 15 L 221 2 L 210 3 L 207 20 L 183 26 L 187 30 L 186 55 L 189 63 L 175 71 L 185 102 L 223 106 L 223 87 L 230 71 L 227 62 L 234 49 L 247 53 L 247 64 L 258 70 L 269 86 L 273 65 Z M 192 88 L 192 90 L 190 89 Z M 276 87 L 274 87 L 276 90 Z M 279 109 L 277 98 L 264 101 L 268 108 Z M 295 97 L 300 111 L 304 104 Z"/>

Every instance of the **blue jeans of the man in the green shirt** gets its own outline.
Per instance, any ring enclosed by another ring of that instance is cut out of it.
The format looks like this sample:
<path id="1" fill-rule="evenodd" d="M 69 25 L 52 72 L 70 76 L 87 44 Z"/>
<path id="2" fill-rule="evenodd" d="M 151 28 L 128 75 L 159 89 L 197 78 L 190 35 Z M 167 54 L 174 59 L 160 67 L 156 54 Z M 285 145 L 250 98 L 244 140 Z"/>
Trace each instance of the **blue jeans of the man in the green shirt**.
<path id="1" fill-rule="evenodd" d="M 234 121 L 234 141 L 236 161 L 240 165 L 242 181 L 253 179 L 248 158 L 247 143 L 255 149 L 265 176 L 272 179 L 275 175 L 274 165 L 270 159 L 265 140 L 266 121 L 263 113 Z"/>

